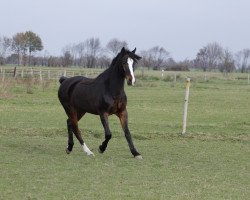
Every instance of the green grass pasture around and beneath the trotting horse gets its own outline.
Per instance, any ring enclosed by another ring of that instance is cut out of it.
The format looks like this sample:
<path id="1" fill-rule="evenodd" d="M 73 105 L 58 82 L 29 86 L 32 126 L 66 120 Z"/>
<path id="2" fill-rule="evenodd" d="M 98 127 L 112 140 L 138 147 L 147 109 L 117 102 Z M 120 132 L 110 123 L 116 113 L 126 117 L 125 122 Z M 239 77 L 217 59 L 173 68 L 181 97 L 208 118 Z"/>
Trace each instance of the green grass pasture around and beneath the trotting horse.
<path id="1" fill-rule="evenodd" d="M 0 80 L 0 199 L 249 199 L 245 76 L 178 73 L 174 84 L 171 73 L 155 73 L 126 86 L 129 127 L 143 160 L 130 154 L 115 116 L 103 155 L 97 151 L 103 128 L 93 115 L 80 129 L 95 157 L 76 140 L 67 155 L 55 81 Z M 192 79 L 188 134 L 180 136 L 186 75 Z"/>

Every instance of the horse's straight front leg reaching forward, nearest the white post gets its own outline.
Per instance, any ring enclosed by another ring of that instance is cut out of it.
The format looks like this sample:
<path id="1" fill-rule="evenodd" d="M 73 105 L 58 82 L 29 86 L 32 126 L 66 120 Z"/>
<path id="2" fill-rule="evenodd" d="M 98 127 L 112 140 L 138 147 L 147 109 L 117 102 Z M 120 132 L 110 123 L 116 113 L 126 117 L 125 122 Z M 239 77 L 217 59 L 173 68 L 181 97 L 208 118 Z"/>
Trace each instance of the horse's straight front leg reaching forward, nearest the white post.
<path id="1" fill-rule="evenodd" d="M 125 138 L 128 142 L 128 146 L 129 146 L 131 153 L 133 154 L 133 156 L 135 158 L 142 159 L 141 154 L 136 150 L 136 148 L 133 144 L 132 137 L 131 137 L 130 131 L 128 129 L 128 112 L 127 112 L 127 110 L 126 109 L 123 110 L 122 112 L 118 113 L 117 116 L 120 119 L 121 126 L 122 126 L 124 133 L 125 133 Z"/>

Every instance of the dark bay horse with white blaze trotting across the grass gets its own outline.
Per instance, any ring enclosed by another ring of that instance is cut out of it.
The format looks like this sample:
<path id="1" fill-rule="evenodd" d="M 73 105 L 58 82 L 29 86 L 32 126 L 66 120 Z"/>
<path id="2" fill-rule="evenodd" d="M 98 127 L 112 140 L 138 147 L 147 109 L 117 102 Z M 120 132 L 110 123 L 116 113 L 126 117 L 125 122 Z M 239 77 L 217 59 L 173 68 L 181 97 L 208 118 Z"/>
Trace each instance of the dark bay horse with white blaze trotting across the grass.
<path id="1" fill-rule="evenodd" d="M 94 155 L 83 141 L 78 128 L 78 121 L 85 113 L 99 115 L 104 132 L 105 140 L 99 146 L 99 152 L 106 150 L 111 131 L 109 129 L 108 116 L 115 114 L 121 122 L 122 129 L 128 142 L 131 153 L 135 158 L 142 158 L 136 150 L 128 128 L 128 113 L 126 109 L 127 97 L 124 91 L 124 81 L 128 85 L 134 85 L 134 63 L 141 59 L 133 51 L 122 48 L 120 53 L 113 59 L 110 67 L 94 79 L 83 76 L 72 78 L 61 77 L 58 98 L 68 116 L 68 146 L 67 153 L 73 149 L 73 133 L 79 140 L 87 155 Z"/>

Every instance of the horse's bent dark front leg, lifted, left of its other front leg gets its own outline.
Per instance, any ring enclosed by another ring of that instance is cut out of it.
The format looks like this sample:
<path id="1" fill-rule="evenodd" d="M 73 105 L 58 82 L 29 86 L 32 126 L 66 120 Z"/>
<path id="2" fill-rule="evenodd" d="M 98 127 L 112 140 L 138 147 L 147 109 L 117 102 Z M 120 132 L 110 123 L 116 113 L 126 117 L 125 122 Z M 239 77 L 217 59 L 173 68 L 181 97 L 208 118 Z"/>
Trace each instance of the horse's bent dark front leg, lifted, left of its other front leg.
<path id="1" fill-rule="evenodd" d="M 109 140 L 112 137 L 111 131 L 109 129 L 109 122 L 108 122 L 108 113 L 102 113 L 100 114 L 100 119 L 104 128 L 104 132 L 105 132 L 105 140 L 103 141 L 103 143 L 99 146 L 99 152 L 103 153 L 108 145 Z"/>

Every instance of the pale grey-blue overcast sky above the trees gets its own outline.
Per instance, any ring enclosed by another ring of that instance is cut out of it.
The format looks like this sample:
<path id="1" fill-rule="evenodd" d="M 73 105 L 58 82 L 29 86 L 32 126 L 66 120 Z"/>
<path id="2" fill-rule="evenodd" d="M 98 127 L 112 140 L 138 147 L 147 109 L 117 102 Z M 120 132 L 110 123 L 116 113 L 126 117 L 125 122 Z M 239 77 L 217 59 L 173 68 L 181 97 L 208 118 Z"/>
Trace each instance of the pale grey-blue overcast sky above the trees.
<path id="1" fill-rule="evenodd" d="M 138 52 L 165 48 L 194 59 L 208 43 L 233 53 L 250 48 L 250 0 L 0 0 L 0 36 L 38 34 L 50 55 L 99 38 L 125 40 Z"/>

